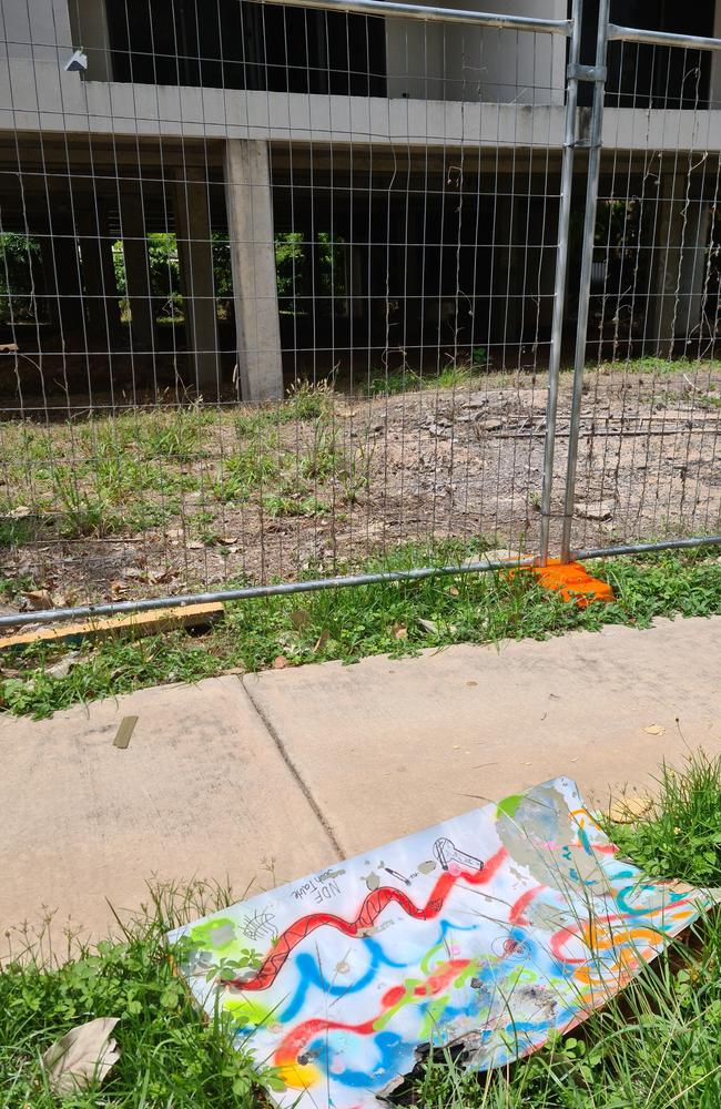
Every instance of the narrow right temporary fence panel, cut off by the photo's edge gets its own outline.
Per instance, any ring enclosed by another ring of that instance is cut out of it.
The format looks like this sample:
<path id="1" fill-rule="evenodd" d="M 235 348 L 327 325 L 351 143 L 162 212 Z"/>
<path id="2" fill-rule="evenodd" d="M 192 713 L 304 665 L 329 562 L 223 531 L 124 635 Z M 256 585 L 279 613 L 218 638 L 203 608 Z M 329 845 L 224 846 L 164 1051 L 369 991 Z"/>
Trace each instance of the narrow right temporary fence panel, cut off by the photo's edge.
<path id="1" fill-rule="evenodd" d="M 596 64 L 563 558 L 721 541 L 721 40 L 602 2 Z"/>

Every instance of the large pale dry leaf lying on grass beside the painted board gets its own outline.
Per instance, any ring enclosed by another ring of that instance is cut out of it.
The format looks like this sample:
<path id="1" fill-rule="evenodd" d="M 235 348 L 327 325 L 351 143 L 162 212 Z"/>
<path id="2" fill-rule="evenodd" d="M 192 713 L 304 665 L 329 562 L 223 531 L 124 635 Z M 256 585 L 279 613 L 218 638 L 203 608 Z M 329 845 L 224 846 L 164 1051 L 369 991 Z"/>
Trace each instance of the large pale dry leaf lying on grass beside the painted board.
<path id="1" fill-rule="evenodd" d="M 72 1097 L 93 1081 L 102 1082 L 120 1051 L 110 1035 L 118 1017 L 98 1017 L 55 1040 L 42 1057 L 42 1066 L 53 1093 Z"/>

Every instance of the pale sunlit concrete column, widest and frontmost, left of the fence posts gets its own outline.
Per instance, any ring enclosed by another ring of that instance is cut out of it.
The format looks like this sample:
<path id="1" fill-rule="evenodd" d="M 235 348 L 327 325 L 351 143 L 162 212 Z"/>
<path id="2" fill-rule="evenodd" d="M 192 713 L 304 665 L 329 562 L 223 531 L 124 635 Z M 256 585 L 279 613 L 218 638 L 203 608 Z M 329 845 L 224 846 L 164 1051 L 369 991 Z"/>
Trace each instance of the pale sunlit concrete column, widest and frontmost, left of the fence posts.
<path id="1" fill-rule="evenodd" d="M 229 139 L 225 204 L 231 240 L 237 367 L 244 400 L 283 396 L 267 143 Z"/>

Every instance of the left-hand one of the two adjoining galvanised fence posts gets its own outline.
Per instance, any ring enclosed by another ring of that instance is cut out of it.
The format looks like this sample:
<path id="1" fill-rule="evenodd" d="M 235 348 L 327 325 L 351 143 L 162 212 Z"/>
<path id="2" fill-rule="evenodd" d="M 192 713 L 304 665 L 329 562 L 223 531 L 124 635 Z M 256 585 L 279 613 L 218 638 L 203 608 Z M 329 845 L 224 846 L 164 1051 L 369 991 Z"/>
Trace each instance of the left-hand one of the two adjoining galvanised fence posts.
<path id="1" fill-rule="evenodd" d="M 550 543 L 551 492 L 554 486 L 554 451 L 556 447 L 556 414 L 558 409 L 558 376 L 561 362 L 563 337 L 563 315 L 566 307 L 566 274 L 568 269 L 568 240 L 571 216 L 571 190 L 573 186 L 573 152 L 576 147 L 576 111 L 578 106 L 578 63 L 581 47 L 581 16 L 583 0 L 573 0 L 572 31 L 568 53 L 568 75 L 566 82 L 566 126 L 561 163 L 560 200 L 558 211 L 558 236 L 556 250 L 556 277 L 554 286 L 554 319 L 548 366 L 548 400 L 546 404 L 546 438 L 544 442 L 544 476 L 541 485 L 541 518 L 539 536 L 539 562 L 546 566 Z"/>

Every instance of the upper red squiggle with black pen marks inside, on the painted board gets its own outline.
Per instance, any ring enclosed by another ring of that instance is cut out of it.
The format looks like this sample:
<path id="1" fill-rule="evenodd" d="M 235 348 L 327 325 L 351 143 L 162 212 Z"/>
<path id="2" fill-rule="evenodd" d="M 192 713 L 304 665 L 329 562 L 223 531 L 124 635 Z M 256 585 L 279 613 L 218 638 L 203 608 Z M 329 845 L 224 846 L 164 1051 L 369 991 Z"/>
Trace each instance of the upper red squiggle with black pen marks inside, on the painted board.
<path id="1" fill-rule="evenodd" d="M 367 932 L 368 928 L 373 928 L 383 910 L 394 902 L 415 920 L 433 920 L 440 913 L 448 894 L 459 878 L 474 886 L 490 882 L 494 874 L 496 874 L 499 866 L 504 863 L 507 854 L 508 852 L 505 847 L 499 847 L 496 854 L 491 855 L 484 864 L 483 869 L 475 873 L 466 871 L 451 873 L 450 871 L 446 871 L 436 882 L 423 908 L 414 905 L 408 895 L 404 894 L 403 891 L 396 889 L 393 886 L 380 886 L 379 889 L 374 889 L 365 898 L 355 920 L 344 920 L 343 917 L 334 916 L 332 913 L 312 913 L 309 916 L 304 916 L 278 936 L 273 950 L 252 978 L 247 981 L 244 981 L 242 978 L 233 978 L 231 981 L 224 983 L 224 985 L 244 991 L 267 989 L 277 978 L 288 955 L 297 947 L 301 940 L 309 936 L 316 928 L 327 926 L 336 928 L 345 936 L 357 936 Z"/>

